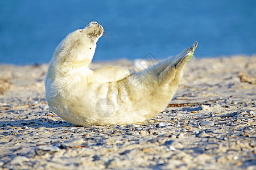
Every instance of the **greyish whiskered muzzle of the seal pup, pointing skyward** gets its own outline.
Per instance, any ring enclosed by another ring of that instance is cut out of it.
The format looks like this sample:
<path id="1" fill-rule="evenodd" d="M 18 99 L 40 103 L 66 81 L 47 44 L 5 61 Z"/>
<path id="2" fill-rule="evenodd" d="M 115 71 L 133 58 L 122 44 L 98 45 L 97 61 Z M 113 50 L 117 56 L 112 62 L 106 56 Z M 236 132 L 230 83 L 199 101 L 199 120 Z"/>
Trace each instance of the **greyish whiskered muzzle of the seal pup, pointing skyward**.
<path id="1" fill-rule="evenodd" d="M 104 32 L 103 27 L 97 22 L 89 23 L 85 28 L 85 33 L 90 38 L 100 38 Z"/>

